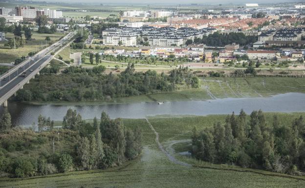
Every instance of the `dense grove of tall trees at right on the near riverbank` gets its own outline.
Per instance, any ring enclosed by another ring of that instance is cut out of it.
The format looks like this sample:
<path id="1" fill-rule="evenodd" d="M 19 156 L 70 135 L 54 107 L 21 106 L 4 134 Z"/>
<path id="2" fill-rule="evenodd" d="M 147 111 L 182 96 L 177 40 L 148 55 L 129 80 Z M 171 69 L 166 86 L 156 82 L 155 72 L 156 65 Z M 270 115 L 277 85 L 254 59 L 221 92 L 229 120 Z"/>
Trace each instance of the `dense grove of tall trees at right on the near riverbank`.
<path id="1" fill-rule="evenodd" d="M 302 175 L 305 171 L 305 122 L 301 116 L 291 125 L 281 125 L 274 116 L 266 123 L 261 110 L 248 120 L 243 110 L 228 115 L 225 124 L 192 133 L 192 154 L 211 163 L 262 168 Z"/>

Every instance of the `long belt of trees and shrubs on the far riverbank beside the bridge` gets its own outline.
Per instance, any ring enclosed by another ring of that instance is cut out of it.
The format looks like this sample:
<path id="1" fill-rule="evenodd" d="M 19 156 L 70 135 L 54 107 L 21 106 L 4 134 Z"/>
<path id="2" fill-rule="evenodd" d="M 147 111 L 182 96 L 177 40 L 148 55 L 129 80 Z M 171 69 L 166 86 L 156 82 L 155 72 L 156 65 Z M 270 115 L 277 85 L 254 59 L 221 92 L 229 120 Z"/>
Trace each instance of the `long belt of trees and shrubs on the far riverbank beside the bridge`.
<path id="1" fill-rule="evenodd" d="M 104 74 L 104 66 L 93 69 L 68 67 L 62 74 L 39 76 L 17 92 L 17 101 L 109 101 L 119 97 L 199 88 L 199 79 L 188 69 L 179 67 L 169 75 L 156 71 L 135 72 L 129 64 L 120 74 Z M 43 71 L 44 72 L 44 71 Z M 37 89 L 40 88 L 40 89 Z"/>

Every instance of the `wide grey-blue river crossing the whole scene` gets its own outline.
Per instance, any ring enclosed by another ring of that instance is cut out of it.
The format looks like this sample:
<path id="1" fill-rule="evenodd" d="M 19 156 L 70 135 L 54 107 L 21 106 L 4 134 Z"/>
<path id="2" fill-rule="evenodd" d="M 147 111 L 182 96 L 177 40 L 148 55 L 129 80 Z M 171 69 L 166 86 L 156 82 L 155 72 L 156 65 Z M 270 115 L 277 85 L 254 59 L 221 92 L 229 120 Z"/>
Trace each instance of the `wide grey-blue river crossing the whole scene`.
<path id="1" fill-rule="evenodd" d="M 243 109 L 246 113 L 253 110 L 264 112 L 304 112 L 305 94 L 286 93 L 267 98 L 225 98 L 207 101 L 184 101 L 108 105 L 32 105 L 9 102 L 8 108 L 0 107 L 0 114 L 10 112 L 13 125 L 37 124 L 39 114 L 50 117 L 54 121 L 62 121 L 66 111 L 72 108 L 81 114 L 83 119 L 100 118 L 106 111 L 110 118 L 144 118 L 154 115 L 209 115 L 230 114 Z"/>

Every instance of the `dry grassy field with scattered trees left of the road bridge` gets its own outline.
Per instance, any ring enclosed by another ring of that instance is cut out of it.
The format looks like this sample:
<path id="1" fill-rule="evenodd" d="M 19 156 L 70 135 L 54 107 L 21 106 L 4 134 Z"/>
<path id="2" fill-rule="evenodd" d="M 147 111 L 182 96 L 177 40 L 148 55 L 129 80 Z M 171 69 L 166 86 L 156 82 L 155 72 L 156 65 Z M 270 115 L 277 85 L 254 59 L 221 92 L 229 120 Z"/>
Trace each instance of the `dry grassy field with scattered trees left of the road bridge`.
<path id="1" fill-rule="evenodd" d="M 45 37 L 49 36 L 51 41 L 45 42 Z M 55 33 L 55 34 L 40 34 L 33 32 L 32 40 L 25 41 L 23 47 L 18 49 L 11 49 L 9 46 L 4 46 L 7 42 L 0 42 L 0 63 L 11 63 L 14 62 L 15 59 L 21 58 L 22 56 L 27 56 L 29 52 L 40 51 L 46 46 L 48 46 L 49 42 L 58 41 L 61 37 L 63 37 L 63 33 Z M 13 38 L 12 33 L 5 33 L 6 39 Z M 25 38 L 23 36 L 23 38 Z"/>

